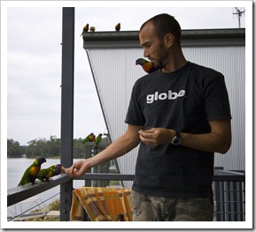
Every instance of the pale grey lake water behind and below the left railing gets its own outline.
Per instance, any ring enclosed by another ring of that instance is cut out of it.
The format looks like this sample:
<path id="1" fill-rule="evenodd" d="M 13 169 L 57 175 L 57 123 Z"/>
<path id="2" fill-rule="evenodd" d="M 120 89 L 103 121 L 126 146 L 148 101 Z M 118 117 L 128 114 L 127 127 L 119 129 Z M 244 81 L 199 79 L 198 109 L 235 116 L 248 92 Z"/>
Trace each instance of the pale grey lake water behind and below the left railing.
<path id="1" fill-rule="evenodd" d="M 7 189 L 15 188 L 19 184 L 19 181 L 23 176 L 25 170 L 27 169 L 27 167 L 29 167 L 33 163 L 33 161 L 35 161 L 35 159 L 24 159 L 24 158 L 7 159 Z M 46 162 L 42 164 L 41 168 L 48 168 L 51 165 L 58 164 L 59 162 L 60 160 L 58 159 L 46 159 Z M 68 167 L 65 167 L 65 168 L 68 168 Z M 80 188 L 83 185 L 84 185 L 84 181 L 82 180 L 74 181 L 74 188 Z M 21 203 L 9 206 L 7 210 L 8 216 L 19 215 L 20 213 L 23 213 L 28 209 L 46 200 L 43 204 L 33 208 L 32 210 L 43 208 L 43 206 L 47 206 L 52 201 L 60 198 L 60 195 L 58 194 L 59 191 L 60 191 L 60 186 L 56 186 L 50 189 L 49 191 L 43 191 L 42 193 L 35 195 L 32 198 L 28 198 L 22 201 Z"/>

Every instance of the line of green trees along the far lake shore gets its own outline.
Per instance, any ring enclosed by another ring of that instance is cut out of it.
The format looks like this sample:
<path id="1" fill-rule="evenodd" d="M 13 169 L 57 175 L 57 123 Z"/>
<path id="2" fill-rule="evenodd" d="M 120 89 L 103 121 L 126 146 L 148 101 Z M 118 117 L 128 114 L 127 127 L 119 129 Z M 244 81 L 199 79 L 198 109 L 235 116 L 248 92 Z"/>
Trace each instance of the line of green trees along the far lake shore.
<path id="1" fill-rule="evenodd" d="M 103 138 L 105 140 L 106 138 Z M 27 146 L 21 146 L 18 141 L 7 138 L 7 157 L 20 158 L 26 155 L 27 158 L 43 156 L 45 158 L 60 157 L 61 139 L 56 136 L 46 138 L 35 138 L 27 142 Z M 74 158 L 85 158 L 90 152 L 84 145 L 84 138 L 75 138 L 73 143 Z"/>

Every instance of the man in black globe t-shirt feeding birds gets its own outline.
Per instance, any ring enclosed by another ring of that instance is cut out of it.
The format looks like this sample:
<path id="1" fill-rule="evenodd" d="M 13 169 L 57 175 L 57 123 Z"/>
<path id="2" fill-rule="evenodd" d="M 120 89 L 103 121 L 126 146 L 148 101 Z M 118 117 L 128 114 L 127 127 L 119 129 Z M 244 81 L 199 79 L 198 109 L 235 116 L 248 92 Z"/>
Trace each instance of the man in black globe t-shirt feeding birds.
<path id="1" fill-rule="evenodd" d="M 158 68 L 133 87 L 127 131 L 67 169 L 71 177 L 139 147 L 134 221 L 213 221 L 213 153 L 231 144 L 229 97 L 218 71 L 188 62 L 181 27 L 159 14 L 141 26 L 144 56 Z"/>

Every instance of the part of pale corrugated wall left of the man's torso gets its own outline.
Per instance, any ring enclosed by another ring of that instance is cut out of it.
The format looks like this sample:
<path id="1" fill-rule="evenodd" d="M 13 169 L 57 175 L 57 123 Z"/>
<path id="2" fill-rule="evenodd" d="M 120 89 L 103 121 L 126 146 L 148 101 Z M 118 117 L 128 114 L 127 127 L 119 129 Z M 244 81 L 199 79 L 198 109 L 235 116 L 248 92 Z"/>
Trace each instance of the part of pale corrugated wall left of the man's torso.
<path id="1" fill-rule="evenodd" d="M 114 141 L 127 129 L 124 123 L 132 87 L 145 75 L 136 58 L 142 49 L 87 50 L 109 134 Z M 137 148 L 118 159 L 122 174 L 134 174 Z"/>

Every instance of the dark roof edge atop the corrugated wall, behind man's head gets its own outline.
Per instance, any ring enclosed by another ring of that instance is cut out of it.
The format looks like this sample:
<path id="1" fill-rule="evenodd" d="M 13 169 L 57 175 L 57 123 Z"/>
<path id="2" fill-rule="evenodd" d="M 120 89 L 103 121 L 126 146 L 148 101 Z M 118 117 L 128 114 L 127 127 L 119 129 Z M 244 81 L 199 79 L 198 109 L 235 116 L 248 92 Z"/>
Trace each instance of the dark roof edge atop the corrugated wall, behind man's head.
<path id="1" fill-rule="evenodd" d="M 138 31 L 88 32 L 82 35 L 84 49 L 140 48 Z M 182 47 L 244 46 L 245 29 L 182 30 Z"/>

